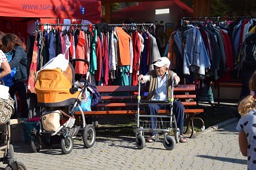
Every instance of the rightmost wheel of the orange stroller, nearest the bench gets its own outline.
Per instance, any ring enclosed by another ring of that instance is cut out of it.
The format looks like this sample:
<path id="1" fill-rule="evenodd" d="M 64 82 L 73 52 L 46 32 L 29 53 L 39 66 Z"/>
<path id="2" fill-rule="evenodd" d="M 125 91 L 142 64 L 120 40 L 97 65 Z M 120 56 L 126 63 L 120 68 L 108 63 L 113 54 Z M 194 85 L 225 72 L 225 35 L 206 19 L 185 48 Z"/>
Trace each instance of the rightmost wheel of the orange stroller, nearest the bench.
<path id="1" fill-rule="evenodd" d="M 86 148 L 90 148 L 94 145 L 96 139 L 96 131 L 92 124 L 85 126 L 83 130 L 83 144 Z"/>

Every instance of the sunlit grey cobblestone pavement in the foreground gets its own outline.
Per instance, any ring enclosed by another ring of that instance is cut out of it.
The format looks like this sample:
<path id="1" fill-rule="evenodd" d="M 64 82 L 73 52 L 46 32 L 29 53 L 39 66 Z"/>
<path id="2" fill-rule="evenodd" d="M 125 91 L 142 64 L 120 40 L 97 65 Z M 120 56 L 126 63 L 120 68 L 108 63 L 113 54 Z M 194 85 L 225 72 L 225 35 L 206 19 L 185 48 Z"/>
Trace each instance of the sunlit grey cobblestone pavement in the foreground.
<path id="1" fill-rule="evenodd" d="M 201 133 L 196 139 L 166 150 L 161 141 L 146 143 L 142 150 L 135 137 L 96 137 L 90 149 L 74 141 L 70 154 L 61 155 L 60 145 L 31 153 L 29 143 L 14 143 L 14 156 L 27 169 L 246 169 L 246 158 L 238 146 L 235 123 L 216 131 Z M 1 165 L 0 169 L 6 165 Z"/>

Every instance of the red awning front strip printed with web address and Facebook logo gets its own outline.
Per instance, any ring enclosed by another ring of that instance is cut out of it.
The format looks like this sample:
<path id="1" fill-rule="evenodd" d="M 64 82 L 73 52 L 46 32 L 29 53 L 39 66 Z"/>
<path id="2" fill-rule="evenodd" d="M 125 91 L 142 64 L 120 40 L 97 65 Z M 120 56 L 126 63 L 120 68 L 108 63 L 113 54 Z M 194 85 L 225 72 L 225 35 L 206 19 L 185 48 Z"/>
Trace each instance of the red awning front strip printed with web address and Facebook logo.
<path id="1" fill-rule="evenodd" d="M 68 18 L 101 21 L 101 1 L 96 0 L 1 0 L 0 16 Z"/>

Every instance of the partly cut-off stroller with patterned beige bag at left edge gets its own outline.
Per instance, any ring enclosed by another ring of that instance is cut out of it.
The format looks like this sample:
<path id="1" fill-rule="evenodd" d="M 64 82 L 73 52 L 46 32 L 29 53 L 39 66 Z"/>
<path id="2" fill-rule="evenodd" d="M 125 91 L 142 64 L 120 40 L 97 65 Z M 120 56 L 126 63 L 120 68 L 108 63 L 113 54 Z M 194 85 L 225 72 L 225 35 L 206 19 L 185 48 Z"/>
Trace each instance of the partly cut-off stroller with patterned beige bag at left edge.
<path id="1" fill-rule="evenodd" d="M 0 79 L 0 84 L 4 82 Z M 8 93 L 8 89 L 5 90 Z M 15 161 L 13 145 L 10 144 L 11 124 L 17 124 L 15 120 L 10 120 L 14 113 L 14 100 L 10 96 L 8 98 L 0 98 L 0 129 L 4 134 L 4 145 L 0 146 L 0 150 L 4 150 L 4 156 L 0 161 L 7 164 L 5 169 L 27 169 L 22 162 Z"/>

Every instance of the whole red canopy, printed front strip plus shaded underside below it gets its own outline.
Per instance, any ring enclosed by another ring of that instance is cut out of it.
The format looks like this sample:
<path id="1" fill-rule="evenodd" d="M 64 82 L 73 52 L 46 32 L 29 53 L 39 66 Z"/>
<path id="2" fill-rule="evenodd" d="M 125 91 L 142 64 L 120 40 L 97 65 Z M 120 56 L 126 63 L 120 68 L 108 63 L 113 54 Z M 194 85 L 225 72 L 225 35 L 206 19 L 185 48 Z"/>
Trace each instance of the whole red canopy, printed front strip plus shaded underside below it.
<path id="1" fill-rule="evenodd" d="M 63 23 L 64 19 L 101 22 L 101 1 L 96 0 L 1 0 L 0 31 L 26 39 L 31 25 Z M 79 24 L 79 21 L 77 22 Z M 34 28 L 35 29 L 35 28 Z"/>

